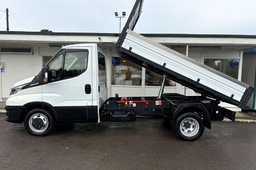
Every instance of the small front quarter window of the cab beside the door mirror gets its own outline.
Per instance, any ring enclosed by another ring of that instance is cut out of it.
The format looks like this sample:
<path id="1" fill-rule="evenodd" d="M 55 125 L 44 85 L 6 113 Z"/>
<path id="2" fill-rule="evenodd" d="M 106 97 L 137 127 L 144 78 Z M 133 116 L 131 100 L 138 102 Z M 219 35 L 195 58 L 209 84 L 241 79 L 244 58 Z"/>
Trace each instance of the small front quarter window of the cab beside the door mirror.
<path id="1" fill-rule="evenodd" d="M 59 53 L 54 61 L 49 64 L 50 82 L 61 80 L 63 53 Z"/>

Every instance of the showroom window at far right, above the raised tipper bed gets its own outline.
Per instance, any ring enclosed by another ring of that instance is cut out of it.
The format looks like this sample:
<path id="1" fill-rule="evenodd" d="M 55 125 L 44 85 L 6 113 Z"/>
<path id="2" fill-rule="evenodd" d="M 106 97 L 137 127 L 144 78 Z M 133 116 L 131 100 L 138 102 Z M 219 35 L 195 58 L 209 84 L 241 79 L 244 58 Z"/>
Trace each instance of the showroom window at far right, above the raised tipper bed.
<path id="1" fill-rule="evenodd" d="M 239 59 L 205 58 L 204 64 L 238 79 Z"/>

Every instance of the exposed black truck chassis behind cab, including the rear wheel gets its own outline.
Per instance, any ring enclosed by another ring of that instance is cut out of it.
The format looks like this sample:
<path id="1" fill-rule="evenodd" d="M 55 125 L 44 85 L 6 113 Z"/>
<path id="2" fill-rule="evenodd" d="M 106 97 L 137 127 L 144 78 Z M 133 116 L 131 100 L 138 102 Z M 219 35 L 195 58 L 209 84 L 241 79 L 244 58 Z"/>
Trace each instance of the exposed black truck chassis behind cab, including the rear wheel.
<path id="1" fill-rule="evenodd" d="M 136 116 L 160 117 L 171 123 L 176 135 L 194 141 L 211 128 L 211 120 L 224 116 L 235 120 L 235 112 L 218 107 L 220 102 L 203 96 L 186 97 L 166 93 L 158 97 L 112 97 L 100 109 L 100 121 L 135 121 Z"/>

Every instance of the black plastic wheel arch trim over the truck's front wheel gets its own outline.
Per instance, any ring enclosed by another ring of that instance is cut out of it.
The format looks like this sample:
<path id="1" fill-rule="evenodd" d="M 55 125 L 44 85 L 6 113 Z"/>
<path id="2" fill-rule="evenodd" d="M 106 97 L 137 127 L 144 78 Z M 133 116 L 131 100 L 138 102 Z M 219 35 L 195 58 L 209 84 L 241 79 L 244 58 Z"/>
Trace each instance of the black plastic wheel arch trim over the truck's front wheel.
<path id="1" fill-rule="evenodd" d="M 22 117 L 22 120 L 24 121 L 25 117 L 26 117 L 26 114 L 28 112 L 30 112 L 32 109 L 37 109 L 37 108 L 40 108 L 40 109 L 45 109 L 46 111 L 48 111 L 52 118 L 54 119 L 54 121 L 59 121 L 59 118 L 57 116 L 57 113 L 54 109 L 53 106 L 51 106 L 51 104 L 49 103 L 45 103 L 45 102 L 30 102 L 30 103 L 26 103 L 24 105 L 24 109 L 22 111 L 22 114 L 21 114 L 21 117 Z"/>

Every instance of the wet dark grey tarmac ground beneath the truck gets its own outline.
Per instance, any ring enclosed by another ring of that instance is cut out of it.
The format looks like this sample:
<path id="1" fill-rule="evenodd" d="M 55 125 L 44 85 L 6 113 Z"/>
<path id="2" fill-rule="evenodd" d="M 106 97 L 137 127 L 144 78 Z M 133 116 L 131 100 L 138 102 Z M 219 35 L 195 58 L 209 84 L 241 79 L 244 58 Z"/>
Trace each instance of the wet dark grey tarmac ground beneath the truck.
<path id="1" fill-rule="evenodd" d="M 256 123 L 213 122 L 177 139 L 162 119 L 61 126 L 33 137 L 0 114 L 0 169 L 255 169 Z"/>

